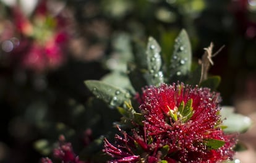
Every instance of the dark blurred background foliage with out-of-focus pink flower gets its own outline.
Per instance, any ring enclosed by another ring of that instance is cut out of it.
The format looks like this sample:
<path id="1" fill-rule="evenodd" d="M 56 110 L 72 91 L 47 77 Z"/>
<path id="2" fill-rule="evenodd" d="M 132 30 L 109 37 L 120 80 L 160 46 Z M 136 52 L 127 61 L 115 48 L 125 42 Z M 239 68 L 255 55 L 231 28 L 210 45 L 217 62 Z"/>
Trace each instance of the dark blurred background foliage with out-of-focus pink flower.
<path id="1" fill-rule="evenodd" d="M 38 162 L 61 133 L 80 151 L 113 130 L 118 113 L 83 81 L 126 88 L 126 64 L 140 61 L 148 36 L 168 57 L 182 28 L 194 62 L 211 41 L 225 45 L 210 69 L 224 105 L 256 98 L 255 0 L 1 0 L 0 162 Z"/>

